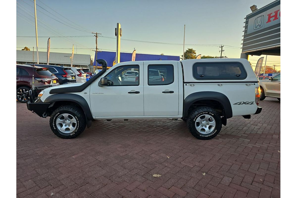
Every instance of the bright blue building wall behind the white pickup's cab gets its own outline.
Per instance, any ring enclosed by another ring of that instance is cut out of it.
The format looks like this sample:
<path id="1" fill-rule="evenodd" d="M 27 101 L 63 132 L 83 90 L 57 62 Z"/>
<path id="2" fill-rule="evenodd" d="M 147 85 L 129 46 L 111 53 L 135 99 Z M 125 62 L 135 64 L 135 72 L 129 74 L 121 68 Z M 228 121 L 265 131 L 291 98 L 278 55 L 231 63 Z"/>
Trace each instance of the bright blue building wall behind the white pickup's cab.
<path id="1" fill-rule="evenodd" d="M 96 58 L 96 56 L 94 56 Z M 97 59 L 104 59 L 107 62 L 107 66 L 113 66 L 113 61 L 115 61 L 115 52 L 99 51 L 97 52 Z M 120 62 L 127 62 L 132 60 L 132 53 L 121 52 Z M 166 56 L 166 55 L 153 55 L 153 54 L 138 54 L 136 53 L 135 61 L 179 61 L 179 56 Z M 96 61 L 94 60 L 94 66 L 96 66 Z"/>

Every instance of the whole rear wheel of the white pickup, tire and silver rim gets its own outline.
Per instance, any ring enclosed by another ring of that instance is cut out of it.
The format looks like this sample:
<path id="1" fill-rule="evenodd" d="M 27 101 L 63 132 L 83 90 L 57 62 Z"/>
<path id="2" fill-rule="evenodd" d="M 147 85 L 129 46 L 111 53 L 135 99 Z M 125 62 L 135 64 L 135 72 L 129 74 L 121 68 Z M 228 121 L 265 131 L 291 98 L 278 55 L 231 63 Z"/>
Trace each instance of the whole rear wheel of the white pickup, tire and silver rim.
<path id="1" fill-rule="evenodd" d="M 190 113 L 187 126 L 191 134 L 200 140 L 209 140 L 219 134 L 222 120 L 210 107 L 198 107 Z"/>

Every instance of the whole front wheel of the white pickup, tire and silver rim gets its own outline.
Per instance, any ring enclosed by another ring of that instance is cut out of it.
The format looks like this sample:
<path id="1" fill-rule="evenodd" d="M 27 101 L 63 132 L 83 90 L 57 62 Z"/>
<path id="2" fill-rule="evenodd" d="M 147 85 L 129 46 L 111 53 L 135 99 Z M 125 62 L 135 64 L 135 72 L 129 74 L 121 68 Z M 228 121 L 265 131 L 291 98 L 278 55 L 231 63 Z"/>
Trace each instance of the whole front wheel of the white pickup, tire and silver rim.
<path id="1" fill-rule="evenodd" d="M 70 139 L 79 136 L 86 128 L 83 111 L 73 105 L 58 107 L 50 116 L 50 129 L 61 138 Z"/>

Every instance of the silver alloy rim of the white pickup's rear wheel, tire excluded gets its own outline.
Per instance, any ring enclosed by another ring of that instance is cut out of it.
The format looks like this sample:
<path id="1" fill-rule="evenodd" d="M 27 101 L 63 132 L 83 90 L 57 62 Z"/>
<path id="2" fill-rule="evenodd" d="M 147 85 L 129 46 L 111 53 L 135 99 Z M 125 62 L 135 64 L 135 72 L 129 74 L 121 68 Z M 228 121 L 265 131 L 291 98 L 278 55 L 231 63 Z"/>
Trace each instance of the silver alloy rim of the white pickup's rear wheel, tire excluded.
<path id="1" fill-rule="evenodd" d="M 199 133 L 209 134 L 214 131 L 216 127 L 216 121 L 211 115 L 203 114 L 195 120 L 195 127 Z"/>

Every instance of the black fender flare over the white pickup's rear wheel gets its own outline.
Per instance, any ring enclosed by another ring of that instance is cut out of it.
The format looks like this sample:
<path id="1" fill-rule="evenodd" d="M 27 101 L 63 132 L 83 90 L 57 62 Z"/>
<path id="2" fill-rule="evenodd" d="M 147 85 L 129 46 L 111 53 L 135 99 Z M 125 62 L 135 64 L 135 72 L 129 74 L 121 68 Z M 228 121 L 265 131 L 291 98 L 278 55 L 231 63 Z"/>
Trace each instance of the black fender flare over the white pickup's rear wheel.
<path id="1" fill-rule="evenodd" d="M 232 107 L 228 97 L 225 94 L 216 91 L 200 91 L 188 95 L 184 99 L 183 118 L 188 117 L 188 110 L 190 106 L 199 100 L 215 100 L 221 103 L 226 113 L 226 118 L 232 118 Z"/>

